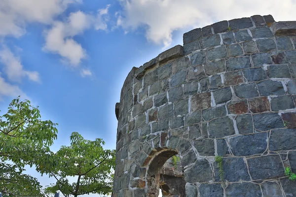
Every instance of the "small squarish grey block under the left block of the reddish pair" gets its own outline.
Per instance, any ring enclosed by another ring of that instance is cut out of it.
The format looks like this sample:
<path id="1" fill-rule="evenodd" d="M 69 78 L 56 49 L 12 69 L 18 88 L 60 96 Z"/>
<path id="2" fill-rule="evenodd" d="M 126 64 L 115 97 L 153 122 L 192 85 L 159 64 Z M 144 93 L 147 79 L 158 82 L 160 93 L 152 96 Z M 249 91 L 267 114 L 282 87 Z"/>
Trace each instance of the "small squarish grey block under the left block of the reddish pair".
<path id="1" fill-rule="evenodd" d="M 239 115 L 235 118 L 236 127 L 240 134 L 247 134 L 254 132 L 253 119 L 251 114 Z"/>

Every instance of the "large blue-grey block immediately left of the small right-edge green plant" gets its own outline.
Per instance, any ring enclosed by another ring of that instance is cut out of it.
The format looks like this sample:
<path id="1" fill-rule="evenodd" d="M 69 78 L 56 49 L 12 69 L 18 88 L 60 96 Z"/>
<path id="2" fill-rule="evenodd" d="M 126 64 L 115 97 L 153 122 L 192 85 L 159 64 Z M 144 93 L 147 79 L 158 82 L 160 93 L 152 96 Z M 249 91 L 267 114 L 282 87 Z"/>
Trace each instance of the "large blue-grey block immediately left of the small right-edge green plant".
<path id="1" fill-rule="evenodd" d="M 250 158 L 249 170 L 254 180 L 271 179 L 284 176 L 284 166 L 279 155 Z"/>

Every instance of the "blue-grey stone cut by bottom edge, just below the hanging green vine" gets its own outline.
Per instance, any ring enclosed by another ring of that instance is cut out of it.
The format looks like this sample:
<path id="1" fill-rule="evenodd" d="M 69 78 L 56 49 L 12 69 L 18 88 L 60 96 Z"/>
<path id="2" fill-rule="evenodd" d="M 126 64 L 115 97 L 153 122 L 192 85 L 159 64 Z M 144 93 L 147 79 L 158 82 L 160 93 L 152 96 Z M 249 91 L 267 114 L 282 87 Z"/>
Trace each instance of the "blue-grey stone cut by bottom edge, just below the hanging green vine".
<path id="1" fill-rule="evenodd" d="M 201 184 L 199 186 L 200 197 L 222 197 L 223 192 L 220 184 Z"/>

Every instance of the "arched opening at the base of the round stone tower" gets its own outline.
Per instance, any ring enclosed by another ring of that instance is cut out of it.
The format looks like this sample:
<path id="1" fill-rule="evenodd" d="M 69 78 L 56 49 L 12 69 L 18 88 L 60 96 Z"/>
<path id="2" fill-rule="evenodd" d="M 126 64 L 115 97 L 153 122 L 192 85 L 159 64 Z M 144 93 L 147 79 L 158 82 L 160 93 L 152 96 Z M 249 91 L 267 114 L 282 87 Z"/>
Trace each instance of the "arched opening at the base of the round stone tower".
<path id="1" fill-rule="evenodd" d="M 182 197 L 185 196 L 183 168 L 172 164 L 177 151 L 164 149 L 155 154 L 148 166 L 148 197 Z M 161 191 L 161 192 L 160 192 Z"/>

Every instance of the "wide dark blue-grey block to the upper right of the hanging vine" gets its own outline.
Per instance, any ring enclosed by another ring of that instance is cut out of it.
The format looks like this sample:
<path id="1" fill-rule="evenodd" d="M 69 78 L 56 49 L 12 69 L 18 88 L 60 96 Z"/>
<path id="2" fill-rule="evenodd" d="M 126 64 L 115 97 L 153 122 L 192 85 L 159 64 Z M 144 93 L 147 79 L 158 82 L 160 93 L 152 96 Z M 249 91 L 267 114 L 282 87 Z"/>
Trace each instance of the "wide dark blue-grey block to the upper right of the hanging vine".
<path id="1" fill-rule="evenodd" d="M 229 139 L 229 144 L 235 156 L 262 154 L 267 148 L 267 133 L 231 137 Z"/>

